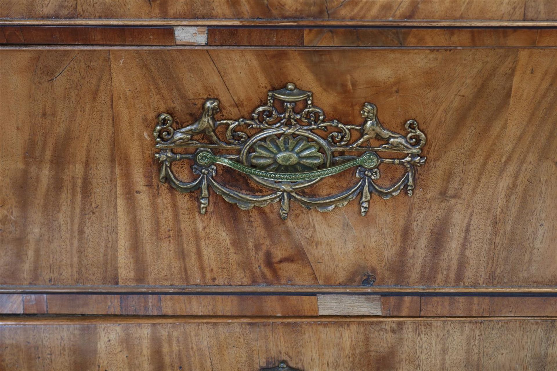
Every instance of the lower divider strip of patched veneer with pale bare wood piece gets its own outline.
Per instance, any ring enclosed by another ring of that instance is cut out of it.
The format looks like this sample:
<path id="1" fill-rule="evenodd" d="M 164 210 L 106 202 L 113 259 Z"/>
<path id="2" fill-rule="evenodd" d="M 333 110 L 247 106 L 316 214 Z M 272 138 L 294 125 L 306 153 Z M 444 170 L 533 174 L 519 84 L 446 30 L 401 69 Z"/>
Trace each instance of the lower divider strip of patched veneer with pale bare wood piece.
<path id="1" fill-rule="evenodd" d="M 0 294 L 0 314 L 557 316 L 557 296 Z"/>

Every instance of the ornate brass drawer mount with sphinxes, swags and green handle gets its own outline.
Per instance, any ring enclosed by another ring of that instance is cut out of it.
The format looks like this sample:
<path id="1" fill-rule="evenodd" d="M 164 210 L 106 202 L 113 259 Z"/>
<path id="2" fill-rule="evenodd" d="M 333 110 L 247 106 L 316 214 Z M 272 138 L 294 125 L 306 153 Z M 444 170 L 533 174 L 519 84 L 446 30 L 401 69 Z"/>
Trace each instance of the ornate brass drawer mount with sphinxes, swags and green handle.
<path id="1" fill-rule="evenodd" d="M 405 123 L 406 135 L 390 131 L 379 122 L 377 107 L 373 103 L 364 103 L 361 125 L 325 121 L 325 113 L 314 106 L 312 100 L 312 92 L 299 90 L 293 83 L 288 83 L 284 89 L 269 91 L 267 104 L 257 107 L 251 118 L 216 121 L 214 116 L 219 112 L 217 99 L 207 99 L 199 120 L 182 128 L 174 128 L 174 118 L 161 113 L 153 131 L 157 142 L 155 148 L 160 150 L 155 154 L 161 165 L 160 181 L 168 182 L 180 192 L 201 189 L 202 214 L 207 210 L 208 188 L 211 186 L 224 200 L 240 209 L 280 201 L 280 215 L 284 220 L 290 210 L 290 200 L 307 209 L 331 211 L 360 195 L 361 215 L 364 216 L 369 209 L 371 194 L 389 199 L 404 189 L 408 196 L 412 196 L 415 167 L 426 162 L 426 157 L 420 156 L 426 135 L 418 130 L 416 121 Z M 300 106 L 303 107 L 297 108 Z M 226 127 L 226 135 L 223 135 L 226 138 L 222 140 L 216 132 L 219 126 Z M 257 132 L 252 134 L 254 131 Z M 319 131 L 329 134 L 325 138 L 317 134 Z M 353 140 L 355 133 L 357 137 Z M 197 140 L 202 138 L 211 142 Z M 384 143 L 371 146 L 369 141 L 373 139 Z M 188 154 L 173 151 L 179 148 L 196 151 Z M 213 150 L 218 150 L 219 154 Z M 404 157 L 384 158 L 379 156 L 381 152 L 398 152 Z M 356 156 L 358 154 L 361 155 Z M 171 164 L 181 160 L 193 161 L 192 170 L 197 179 L 184 182 L 175 177 Z M 242 172 L 273 192 L 251 195 L 230 189 L 214 179 L 216 164 Z M 403 166 L 404 175 L 393 185 L 379 186 L 375 180 L 379 179 L 382 164 Z M 297 192 L 351 167 L 356 167 L 358 181 L 337 194 L 311 197 Z"/>

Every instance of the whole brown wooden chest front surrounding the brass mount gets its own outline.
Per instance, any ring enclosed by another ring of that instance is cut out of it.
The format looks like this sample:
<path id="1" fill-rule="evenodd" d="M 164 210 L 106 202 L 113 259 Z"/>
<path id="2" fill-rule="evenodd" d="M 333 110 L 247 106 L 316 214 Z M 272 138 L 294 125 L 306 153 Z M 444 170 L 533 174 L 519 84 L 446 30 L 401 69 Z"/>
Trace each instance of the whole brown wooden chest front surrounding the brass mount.
<path id="1" fill-rule="evenodd" d="M 557 368 L 556 2 L 8 0 L 0 31 L 0 369 Z M 416 120 L 412 197 L 282 220 L 160 181 L 160 113 L 288 83 L 353 132 Z"/>

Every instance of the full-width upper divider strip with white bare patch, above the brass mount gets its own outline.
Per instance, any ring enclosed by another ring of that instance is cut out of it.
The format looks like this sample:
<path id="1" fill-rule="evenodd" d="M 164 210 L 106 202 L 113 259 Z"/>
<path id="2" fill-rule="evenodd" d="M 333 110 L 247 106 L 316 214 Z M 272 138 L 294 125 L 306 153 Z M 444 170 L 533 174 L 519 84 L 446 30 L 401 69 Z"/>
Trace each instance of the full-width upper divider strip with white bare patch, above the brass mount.
<path id="1" fill-rule="evenodd" d="M 0 22 L 1 24 L 1 22 Z M 555 47 L 555 28 L 0 26 L 1 44 Z"/>

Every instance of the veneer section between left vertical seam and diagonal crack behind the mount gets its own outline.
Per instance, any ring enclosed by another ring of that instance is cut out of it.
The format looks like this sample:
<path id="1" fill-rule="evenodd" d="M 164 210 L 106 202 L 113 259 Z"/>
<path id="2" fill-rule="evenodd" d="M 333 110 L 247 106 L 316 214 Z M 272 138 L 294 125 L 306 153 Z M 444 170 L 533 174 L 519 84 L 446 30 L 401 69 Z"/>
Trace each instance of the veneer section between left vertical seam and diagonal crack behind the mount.
<path id="1" fill-rule="evenodd" d="M 226 202 L 215 203 L 216 211 L 205 217 L 197 212 L 196 195 L 168 192 L 154 176 L 152 120 L 158 113 L 180 112 L 183 122 L 196 120 L 204 97 L 218 96 L 223 114 L 238 117 L 234 98 L 211 55 L 206 51 L 143 56 L 118 51 L 111 55 L 114 102 L 119 107 L 114 112 L 118 122 L 118 207 L 122 210 L 119 256 L 128 267 L 120 270 L 120 284 L 249 285 L 277 279 L 317 283 L 295 230 L 269 217 L 270 211 L 254 210 L 268 230 L 250 227 L 256 219 Z M 150 82 L 151 97 L 143 96 L 136 68 L 156 74 Z M 206 231 L 211 231 L 210 238 Z"/>

